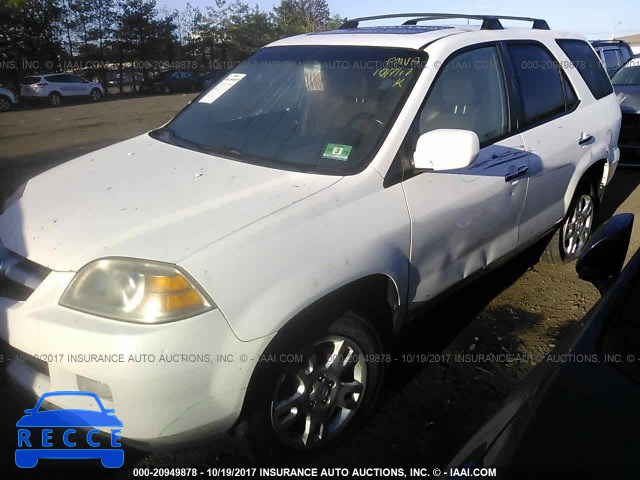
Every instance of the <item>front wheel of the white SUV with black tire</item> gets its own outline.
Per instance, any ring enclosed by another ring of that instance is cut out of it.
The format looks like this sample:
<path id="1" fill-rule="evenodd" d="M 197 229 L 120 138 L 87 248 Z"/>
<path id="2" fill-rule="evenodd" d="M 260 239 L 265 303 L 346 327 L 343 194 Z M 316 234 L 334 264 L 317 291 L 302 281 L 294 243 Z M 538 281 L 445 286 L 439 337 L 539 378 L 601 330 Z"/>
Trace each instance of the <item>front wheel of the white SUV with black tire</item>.
<path id="1" fill-rule="evenodd" d="M 266 384 L 258 389 L 263 398 L 249 418 L 249 438 L 271 460 L 341 444 L 371 414 L 382 384 L 379 336 L 353 311 L 291 340 L 295 361 L 254 378 Z"/>

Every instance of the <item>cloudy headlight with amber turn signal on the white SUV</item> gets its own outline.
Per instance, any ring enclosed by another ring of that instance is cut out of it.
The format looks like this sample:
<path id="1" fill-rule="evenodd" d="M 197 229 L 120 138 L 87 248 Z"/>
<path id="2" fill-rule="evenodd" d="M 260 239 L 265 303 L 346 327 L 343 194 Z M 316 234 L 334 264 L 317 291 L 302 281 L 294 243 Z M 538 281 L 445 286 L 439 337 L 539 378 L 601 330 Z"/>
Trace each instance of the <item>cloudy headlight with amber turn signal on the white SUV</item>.
<path id="1" fill-rule="evenodd" d="M 217 308 L 180 268 L 127 258 L 105 258 L 84 266 L 60 305 L 147 324 L 181 320 Z"/>

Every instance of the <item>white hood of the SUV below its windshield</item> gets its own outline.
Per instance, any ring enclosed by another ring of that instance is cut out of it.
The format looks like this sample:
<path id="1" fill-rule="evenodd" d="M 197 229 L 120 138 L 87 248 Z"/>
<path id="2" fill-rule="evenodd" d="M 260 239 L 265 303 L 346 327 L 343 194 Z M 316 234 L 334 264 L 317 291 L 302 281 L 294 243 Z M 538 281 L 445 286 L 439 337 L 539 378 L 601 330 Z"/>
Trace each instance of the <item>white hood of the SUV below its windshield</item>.
<path id="1" fill-rule="evenodd" d="M 107 256 L 178 263 L 341 178 L 241 163 L 145 134 L 31 179 L 0 216 L 0 240 L 57 271 Z"/>

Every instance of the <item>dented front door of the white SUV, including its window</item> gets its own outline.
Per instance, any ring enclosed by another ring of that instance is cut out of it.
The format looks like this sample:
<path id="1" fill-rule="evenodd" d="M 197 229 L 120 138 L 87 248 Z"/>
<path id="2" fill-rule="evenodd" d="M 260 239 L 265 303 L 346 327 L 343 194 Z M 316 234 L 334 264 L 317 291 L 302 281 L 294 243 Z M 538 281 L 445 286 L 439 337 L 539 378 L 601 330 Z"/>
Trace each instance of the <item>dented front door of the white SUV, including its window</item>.
<path id="1" fill-rule="evenodd" d="M 467 168 L 409 169 L 402 182 L 412 227 L 409 301 L 434 297 L 516 247 L 529 155 L 511 133 L 508 89 L 499 45 L 477 46 L 447 59 L 420 110 L 414 137 L 470 130 L 481 150 Z"/>

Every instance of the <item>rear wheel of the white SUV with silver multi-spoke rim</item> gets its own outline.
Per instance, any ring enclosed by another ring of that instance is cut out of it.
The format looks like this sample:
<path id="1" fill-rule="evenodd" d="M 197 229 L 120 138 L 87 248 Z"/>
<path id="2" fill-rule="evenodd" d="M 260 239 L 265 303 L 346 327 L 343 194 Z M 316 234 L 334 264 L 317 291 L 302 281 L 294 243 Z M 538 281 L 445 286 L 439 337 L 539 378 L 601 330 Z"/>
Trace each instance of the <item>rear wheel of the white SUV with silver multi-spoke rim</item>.
<path id="1" fill-rule="evenodd" d="M 583 179 L 569 205 L 569 211 L 551 238 L 542 259 L 547 263 L 569 263 L 578 258 L 594 231 L 598 198 L 593 185 Z"/>

